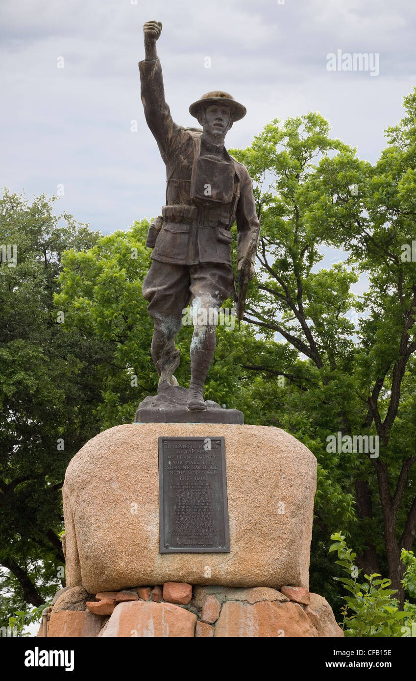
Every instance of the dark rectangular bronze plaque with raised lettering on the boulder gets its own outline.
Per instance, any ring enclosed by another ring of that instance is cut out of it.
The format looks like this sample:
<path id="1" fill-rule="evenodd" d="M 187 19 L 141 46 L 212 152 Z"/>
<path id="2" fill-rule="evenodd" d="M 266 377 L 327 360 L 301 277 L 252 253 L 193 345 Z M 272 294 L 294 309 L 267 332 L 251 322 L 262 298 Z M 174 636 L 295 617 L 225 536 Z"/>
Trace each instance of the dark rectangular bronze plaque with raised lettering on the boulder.
<path id="1" fill-rule="evenodd" d="M 229 552 L 223 437 L 159 437 L 160 553 Z"/>

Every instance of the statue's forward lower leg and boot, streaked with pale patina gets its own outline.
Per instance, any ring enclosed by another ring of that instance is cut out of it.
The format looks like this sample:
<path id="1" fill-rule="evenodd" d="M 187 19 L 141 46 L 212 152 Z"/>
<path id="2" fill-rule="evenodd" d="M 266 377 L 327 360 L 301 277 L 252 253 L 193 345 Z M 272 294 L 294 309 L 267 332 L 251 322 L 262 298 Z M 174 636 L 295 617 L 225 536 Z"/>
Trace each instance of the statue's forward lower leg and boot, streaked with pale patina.
<path id="1" fill-rule="evenodd" d="M 215 351 L 215 327 L 195 327 L 191 343 L 191 383 L 187 407 L 192 411 L 206 409 L 204 383 Z"/>

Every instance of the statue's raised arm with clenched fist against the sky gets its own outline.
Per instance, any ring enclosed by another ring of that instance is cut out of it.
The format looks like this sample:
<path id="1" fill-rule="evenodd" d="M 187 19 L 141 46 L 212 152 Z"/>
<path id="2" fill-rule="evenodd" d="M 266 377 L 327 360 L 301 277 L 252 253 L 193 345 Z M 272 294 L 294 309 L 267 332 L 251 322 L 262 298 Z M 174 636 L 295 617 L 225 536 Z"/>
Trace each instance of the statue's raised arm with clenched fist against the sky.
<path id="1" fill-rule="evenodd" d="M 180 127 L 174 123 L 165 102 L 161 63 L 156 50 L 161 30 L 160 21 L 146 21 L 143 27 L 145 58 L 139 62 L 139 69 L 144 116 L 166 162 L 170 161 L 170 152 Z"/>

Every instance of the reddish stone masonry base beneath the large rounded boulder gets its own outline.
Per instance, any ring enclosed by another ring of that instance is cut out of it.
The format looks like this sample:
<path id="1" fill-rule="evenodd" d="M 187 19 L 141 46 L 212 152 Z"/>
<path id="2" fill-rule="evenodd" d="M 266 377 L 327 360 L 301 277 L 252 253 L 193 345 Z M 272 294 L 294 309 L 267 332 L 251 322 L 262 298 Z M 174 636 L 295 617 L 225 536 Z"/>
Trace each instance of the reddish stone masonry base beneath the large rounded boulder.
<path id="1" fill-rule="evenodd" d="M 44 611 L 48 637 L 334 637 L 332 608 L 306 588 L 166 582 L 89 594 L 61 589 Z"/>

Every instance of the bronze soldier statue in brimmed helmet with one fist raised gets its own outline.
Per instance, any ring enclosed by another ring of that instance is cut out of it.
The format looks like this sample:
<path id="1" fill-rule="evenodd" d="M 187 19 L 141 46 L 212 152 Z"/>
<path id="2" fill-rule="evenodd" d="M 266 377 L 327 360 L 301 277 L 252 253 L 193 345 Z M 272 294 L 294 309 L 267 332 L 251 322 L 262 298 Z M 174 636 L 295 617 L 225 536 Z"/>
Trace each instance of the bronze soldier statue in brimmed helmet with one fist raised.
<path id="1" fill-rule="evenodd" d="M 206 315 L 194 315 L 198 321 L 191 342 L 187 398 L 188 409 L 201 410 L 206 409 L 204 383 L 214 356 L 215 326 L 200 320 L 212 321 L 212 310 L 218 313 L 233 294 L 229 230 L 234 220 L 239 267 L 257 239 L 259 221 L 249 172 L 224 147 L 227 131 L 245 116 L 245 107 L 228 93 L 214 91 L 189 107 L 202 133 L 174 123 L 156 50 L 161 29 L 157 21 L 144 25 L 145 59 L 139 63 L 144 115 L 167 174 L 166 205 L 150 226 L 146 242 L 153 247 L 153 262 L 143 282 L 143 296 L 154 323 L 151 353 L 159 374 L 158 392 L 164 383 L 177 385 L 174 371 L 180 351 L 175 338 L 182 311 L 189 302 L 194 310 L 206 310 Z M 252 263 L 254 257 L 255 253 Z M 249 270 L 253 276 L 253 264 Z"/>

